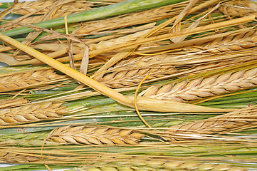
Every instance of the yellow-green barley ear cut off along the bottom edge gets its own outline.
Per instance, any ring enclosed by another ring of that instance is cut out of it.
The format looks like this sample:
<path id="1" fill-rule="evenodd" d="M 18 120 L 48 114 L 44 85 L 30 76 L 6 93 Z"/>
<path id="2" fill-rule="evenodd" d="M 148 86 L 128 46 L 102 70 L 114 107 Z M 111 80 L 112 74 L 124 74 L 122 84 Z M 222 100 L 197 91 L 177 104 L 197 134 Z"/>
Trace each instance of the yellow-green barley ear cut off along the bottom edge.
<path id="1" fill-rule="evenodd" d="M 131 164 L 122 164 L 122 162 L 115 162 L 115 164 L 108 163 L 108 165 L 96 166 L 85 166 L 77 167 L 76 170 L 80 171 L 171 171 L 171 170 L 209 170 L 209 171 L 246 171 L 246 168 L 236 167 L 229 164 L 212 164 L 212 163 L 201 163 L 201 162 L 182 162 L 182 161 L 163 161 L 163 160 L 139 160 L 137 163 L 132 162 Z"/>

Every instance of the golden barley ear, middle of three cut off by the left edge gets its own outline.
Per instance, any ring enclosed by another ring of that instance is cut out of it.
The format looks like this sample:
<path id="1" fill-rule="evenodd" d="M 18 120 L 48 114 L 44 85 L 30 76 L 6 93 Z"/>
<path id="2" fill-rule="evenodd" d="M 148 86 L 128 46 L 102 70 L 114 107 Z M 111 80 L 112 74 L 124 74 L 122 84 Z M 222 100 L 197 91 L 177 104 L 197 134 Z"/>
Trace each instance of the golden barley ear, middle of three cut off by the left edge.
<path id="1" fill-rule="evenodd" d="M 60 118 L 67 113 L 62 103 L 36 103 L 0 110 L 0 125 L 16 125 Z"/>

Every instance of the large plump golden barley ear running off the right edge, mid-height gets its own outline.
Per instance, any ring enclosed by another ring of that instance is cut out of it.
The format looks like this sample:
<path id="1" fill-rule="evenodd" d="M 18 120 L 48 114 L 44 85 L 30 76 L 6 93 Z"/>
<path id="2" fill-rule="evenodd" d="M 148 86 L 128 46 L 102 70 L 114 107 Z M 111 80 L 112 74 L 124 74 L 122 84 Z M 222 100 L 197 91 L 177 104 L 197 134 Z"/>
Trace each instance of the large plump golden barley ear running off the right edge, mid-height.
<path id="1" fill-rule="evenodd" d="M 256 87 L 257 68 L 243 70 L 235 73 L 225 73 L 209 78 L 197 78 L 192 81 L 167 84 L 162 87 L 152 86 L 144 90 L 140 95 L 162 100 L 176 100 L 184 102 L 199 98 L 221 95 L 231 91 Z"/>

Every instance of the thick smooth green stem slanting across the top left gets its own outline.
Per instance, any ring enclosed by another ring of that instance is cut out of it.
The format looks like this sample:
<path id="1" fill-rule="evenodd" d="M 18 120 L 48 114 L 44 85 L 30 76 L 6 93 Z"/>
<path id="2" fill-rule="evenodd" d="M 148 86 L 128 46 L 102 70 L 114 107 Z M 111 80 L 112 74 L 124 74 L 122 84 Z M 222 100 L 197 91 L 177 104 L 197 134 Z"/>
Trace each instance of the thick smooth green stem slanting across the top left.
<path id="1" fill-rule="evenodd" d="M 108 6 L 103 6 L 100 8 L 92 9 L 89 11 L 83 11 L 77 14 L 70 14 L 67 16 L 68 24 L 80 22 L 80 21 L 90 21 L 94 19 L 101 19 L 108 16 L 116 16 L 120 14 L 127 14 L 134 11 L 142 11 L 145 9 L 154 9 L 159 6 L 165 6 L 169 4 L 176 4 L 185 0 L 130 0 L 123 1 L 117 4 L 111 4 Z M 51 19 L 48 21 L 42 21 L 34 26 L 51 28 L 56 26 L 62 26 L 64 24 L 64 17 L 59 17 L 57 19 Z M 20 27 L 14 28 L 8 31 L 4 31 L 6 36 L 16 36 L 22 33 L 29 33 L 34 31 L 33 28 Z"/>

